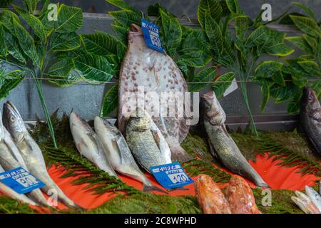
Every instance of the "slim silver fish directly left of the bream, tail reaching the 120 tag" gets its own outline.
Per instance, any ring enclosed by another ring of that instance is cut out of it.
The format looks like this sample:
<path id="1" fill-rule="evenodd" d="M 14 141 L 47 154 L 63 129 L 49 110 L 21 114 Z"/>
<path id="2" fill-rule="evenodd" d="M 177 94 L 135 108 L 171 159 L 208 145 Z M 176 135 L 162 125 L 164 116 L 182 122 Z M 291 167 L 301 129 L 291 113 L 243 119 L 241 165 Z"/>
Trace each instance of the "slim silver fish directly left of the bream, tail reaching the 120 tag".
<path id="1" fill-rule="evenodd" d="M 123 138 L 121 132 L 114 125 L 109 123 L 108 120 L 104 120 L 98 116 L 95 118 L 94 124 L 98 138 L 103 143 L 106 156 L 108 160 L 111 161 L 114 170 L 142 182 L 144 192 L 154 190 L 165 192 L 154 186 L 143 172 L 141 172 L 125 138 Z"/>

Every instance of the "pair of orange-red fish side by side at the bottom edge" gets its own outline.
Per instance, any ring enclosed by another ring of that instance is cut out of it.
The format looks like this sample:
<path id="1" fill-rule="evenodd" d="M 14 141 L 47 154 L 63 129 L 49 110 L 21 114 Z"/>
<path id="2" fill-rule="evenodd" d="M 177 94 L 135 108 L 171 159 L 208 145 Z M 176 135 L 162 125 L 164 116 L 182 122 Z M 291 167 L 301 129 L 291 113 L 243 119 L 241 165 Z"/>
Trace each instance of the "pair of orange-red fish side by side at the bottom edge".
<path id="1" fill-rule="evenodd" d="M 240 176 L 230 178 L 228 186 L 220 187 L 208 175 L 195 181 L 195 195 L 205 214 L 260 214 L 250 185 Z"/>

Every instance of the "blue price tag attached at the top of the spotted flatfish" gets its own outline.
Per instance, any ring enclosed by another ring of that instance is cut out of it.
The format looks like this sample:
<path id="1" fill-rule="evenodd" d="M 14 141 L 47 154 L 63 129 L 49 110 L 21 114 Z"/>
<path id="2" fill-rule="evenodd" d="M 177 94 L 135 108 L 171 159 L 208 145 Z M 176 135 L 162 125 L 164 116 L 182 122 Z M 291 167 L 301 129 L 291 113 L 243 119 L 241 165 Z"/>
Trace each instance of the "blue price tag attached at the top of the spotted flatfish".
<path id="1" fill-rule="evenodd" d="M 164 52 L 159 36 L 159 27 L 145 19 L 141 19 L 141 29 L 146 45 L 156 51 Z"/>

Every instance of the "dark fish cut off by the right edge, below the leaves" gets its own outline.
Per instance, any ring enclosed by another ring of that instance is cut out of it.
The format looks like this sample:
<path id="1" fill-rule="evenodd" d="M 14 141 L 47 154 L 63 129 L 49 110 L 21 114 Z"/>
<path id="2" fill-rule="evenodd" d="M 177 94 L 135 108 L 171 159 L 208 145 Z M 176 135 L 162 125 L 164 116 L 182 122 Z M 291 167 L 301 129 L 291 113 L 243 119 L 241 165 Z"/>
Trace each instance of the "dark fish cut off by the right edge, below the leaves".
<path id="1" fill-rule="evenodd" d="M 321 105 L 315 92 L 308 87 L 302 93 L 300 122 L 315 150 L 321 154 Z"/>

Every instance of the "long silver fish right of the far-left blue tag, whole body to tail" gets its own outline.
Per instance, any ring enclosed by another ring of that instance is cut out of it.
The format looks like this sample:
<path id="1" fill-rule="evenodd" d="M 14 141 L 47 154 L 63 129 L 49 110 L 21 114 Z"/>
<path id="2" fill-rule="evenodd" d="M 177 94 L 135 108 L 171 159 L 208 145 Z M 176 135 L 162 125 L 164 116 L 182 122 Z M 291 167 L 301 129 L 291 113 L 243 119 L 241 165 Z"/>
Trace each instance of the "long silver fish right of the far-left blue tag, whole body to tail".
<path id="1" fill-rule="evenodd" d="M 18 147 L 22 157 L 24 158 L 24 162 L 29 172 L 44 182 L 45 186 L 41 187 L 41 190 L 43 190 L 45 193 L 55 190 L 58 200 L 63 202 L 63 204 L 66 204 L 67 207 L 82 209 L 73 201 L 71 201 L 71 199 L 66 197 L 58 185 L 56 185 L 54 180 L 51 179 L 46 169 L 46 162 L 44 160 L 44 156 L 42 155 L 41 149 L 31 137 L 28 130 L 26 130 L 24 120 L 21 118 L 21 115 L 14 104 L 10 103 L 9 101 L 4 103 L 3 114 L 4 126 L 9 133 L 11 133 L 16 147 Z"/>

